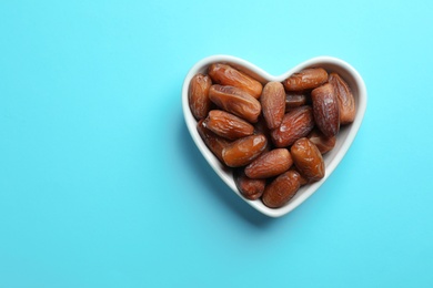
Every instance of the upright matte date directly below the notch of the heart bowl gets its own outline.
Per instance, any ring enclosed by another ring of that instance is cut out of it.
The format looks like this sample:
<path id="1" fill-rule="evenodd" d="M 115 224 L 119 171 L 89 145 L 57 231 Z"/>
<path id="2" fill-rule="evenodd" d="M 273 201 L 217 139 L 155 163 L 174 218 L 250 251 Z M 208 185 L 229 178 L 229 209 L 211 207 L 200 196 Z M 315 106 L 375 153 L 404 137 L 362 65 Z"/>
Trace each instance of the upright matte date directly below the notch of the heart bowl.
<path id="1" fill-rule="evenodd" d="M 269 128 L 280 126 L 285 112 L 285 92 L 280 82 L 268 82 L 260 96 L 264 120 Z"/>

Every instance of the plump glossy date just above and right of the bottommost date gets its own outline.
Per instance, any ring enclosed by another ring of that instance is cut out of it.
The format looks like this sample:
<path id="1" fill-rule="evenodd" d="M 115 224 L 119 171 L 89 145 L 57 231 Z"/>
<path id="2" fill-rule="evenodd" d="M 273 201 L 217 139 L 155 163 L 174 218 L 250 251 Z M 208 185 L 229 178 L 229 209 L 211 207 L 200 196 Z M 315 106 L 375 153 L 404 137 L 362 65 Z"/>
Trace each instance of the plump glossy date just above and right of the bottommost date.
<path id="1" fill-rule="evenodd" d="M 325 175 L 325 166 L 319 148 L 306 137 L 298 140 L 290 153 L 298 171 L 309 183 L 320 181 Z"/>

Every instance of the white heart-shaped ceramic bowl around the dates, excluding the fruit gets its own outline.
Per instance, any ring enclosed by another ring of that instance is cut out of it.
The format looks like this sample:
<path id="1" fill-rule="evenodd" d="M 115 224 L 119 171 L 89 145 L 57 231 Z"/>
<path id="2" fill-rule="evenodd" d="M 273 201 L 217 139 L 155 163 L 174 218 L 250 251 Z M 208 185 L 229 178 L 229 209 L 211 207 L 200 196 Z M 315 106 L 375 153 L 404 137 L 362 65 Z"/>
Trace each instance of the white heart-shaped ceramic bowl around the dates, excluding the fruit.
<path id="1" fill-rule="evenodd" d="M 352 90 L 353 96 L 355 99 L 356 104 L 356 116 L 353 123 L 341 126 L 340 132 L 336 136 L 336 143 L 332 151 L 323 155 L 323 160 L 325 163 L 325 176 L 313 184 L 309 184 L 305 186 L 302 186 L 296 195 L 284 206 L 280 208 L 269 208 L 263 205 L 261 199 L 256 200 L 249 200 L 245 199 L 238 191 L 236 185 L 233 179 L 232 169 L 224 167 L 218 158 L 212 154 L 212 152 L 207 147 L 207 145 L 201 140 L 198 131 L 197 131 L 197 121 L 194 116 L 192 115 L 189 103 L 188 103 L 188 90 L 191 79 L 197 73 L 207 73 L 208 66 L 211 63 L 215 62 L 222 62 L 228 63 L 238 70 L 241 70 L 245 72 L 246 74 L 253 76 L 254 79 L 259 80 L 263 84 L 269 81 L 278 81 L 282 82 L 286 78 L 289 78 L 291 74 L 299 72 L 305 68 L 311 66 L 321 66 L 324 68 L 328 72 L 336 72 L 339 73 L 349 84 L 349 86 Z M 244 199 L 248 204 L 250 204 L 252 207 L 254 207 L 256 210 L 263 213 L 264 215 L 268 215 L 270 217 L 281 217 L 289 212 L 296 208 L 299 205 L 301 205 L 304 200 L 306 200 L 311 195 L 313 195 L 314 192 L 319 189 L 319 187 L 326 181 L 326 178 L 332 174 L 332 172 L 335 169 L 336 165 L 341 162 L 345 153 L 348 152 L 349 147 L 351 146 L 353 140 L 355 138 L 355 135 L 361 126 L 362 120 L 364 117 L 365 109 L 366 109 L 366 89 L 364 81 L 362 80 L 361 75 L 358 73 L 358 71 L 352 68 L 350 64 L 344 62 L 343 60 L 331 58 L 331 56 L 318 56 L 310 59 L 292 69 L 290 69 L 288 72 L 279 75 L 273 76 L 270 75 L 268 72 L 263 71 L 262 69 L 251 64 L 250 62 L 235 58 L 230 55 L 212 55 L 208 56 L 201 61 L 199 61 L 195 65 L 191 68 L 191 70 L 188 72 L 183 86 L 182 86 L 182 109 L 183 109 L 183 115 L 185 119 L 185 123 L 188 126 L 188 130 L 190 131 L 191 137 L 194 141 L 195 145 L 199 147 L 201 154 L 203 157 L 208 161 L 209 165 L 214 169 L 214 172 L 220 176 L 220 178 L 242 199 Z"/>

